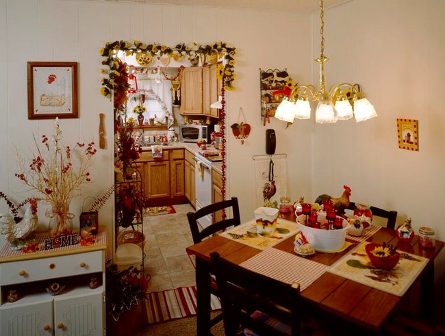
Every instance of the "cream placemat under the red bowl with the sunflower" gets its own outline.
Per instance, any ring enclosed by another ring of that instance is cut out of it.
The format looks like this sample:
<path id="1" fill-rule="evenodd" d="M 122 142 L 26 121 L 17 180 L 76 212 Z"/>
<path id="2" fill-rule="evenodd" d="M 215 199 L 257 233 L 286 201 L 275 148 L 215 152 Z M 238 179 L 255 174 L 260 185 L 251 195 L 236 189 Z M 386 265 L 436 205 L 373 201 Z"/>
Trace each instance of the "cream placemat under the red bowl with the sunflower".
<path id="1" fill-rule="evenodd" d="M 402 257 L 397 266 L 392 270 L 379 270 L 372 267 L 368 255 L 366 255 L 366 244 L 369 243 L 359 244 L 357 248 L 335 262 L 327 271 L 380 289 L 383 292 L 403 296 L 429 260 L 398 251 Z"/>

